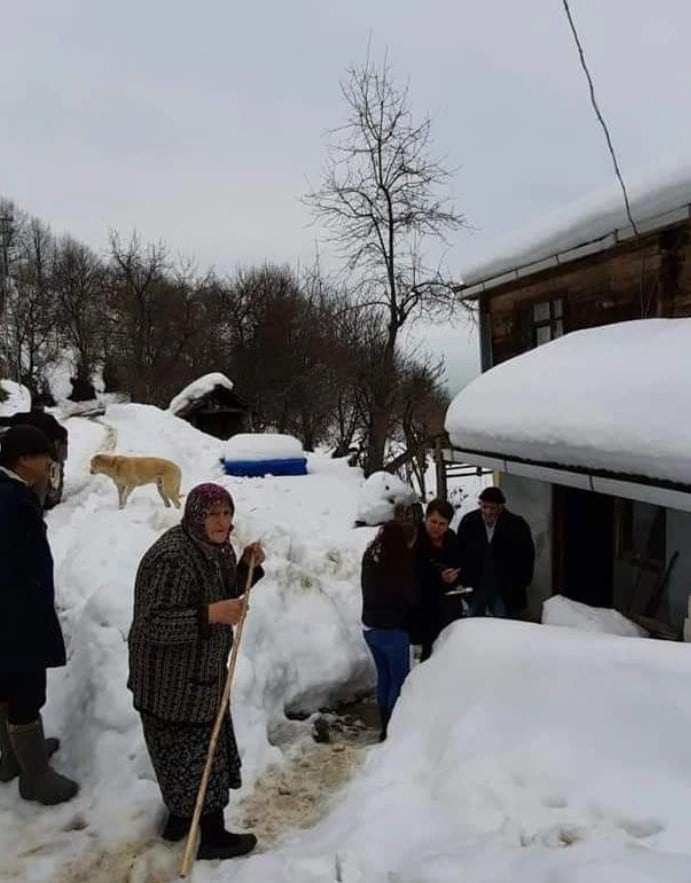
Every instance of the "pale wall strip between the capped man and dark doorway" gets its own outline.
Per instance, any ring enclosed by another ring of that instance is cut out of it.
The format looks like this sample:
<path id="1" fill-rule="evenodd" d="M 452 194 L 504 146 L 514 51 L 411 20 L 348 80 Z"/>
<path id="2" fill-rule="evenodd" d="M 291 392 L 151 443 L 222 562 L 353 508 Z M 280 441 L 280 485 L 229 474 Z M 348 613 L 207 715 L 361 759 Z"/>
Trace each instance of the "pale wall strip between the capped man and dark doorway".
<path id="1" fill-rule="evenodd" d="M 535 576 L 528 590 L 528 604 L 538 614 L 552 594 L 552 485 L 517 475 L 500 477 L 507 508 L 522 515 L 535 540 Z"/>

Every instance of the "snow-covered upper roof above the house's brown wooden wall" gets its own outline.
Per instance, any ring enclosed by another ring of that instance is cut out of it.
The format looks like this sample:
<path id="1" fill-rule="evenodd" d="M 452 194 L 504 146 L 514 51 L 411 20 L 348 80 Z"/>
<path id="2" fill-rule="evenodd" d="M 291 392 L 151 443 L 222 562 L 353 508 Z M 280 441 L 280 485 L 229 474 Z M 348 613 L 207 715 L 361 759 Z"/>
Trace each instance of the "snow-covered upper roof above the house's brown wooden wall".
<path id="1" fill-rule="evenodd" d="M 662 229 L 691 217 L 691 161 L 673 168 L 627 176 L 631 214 L 639 233 Z M 619 185 L 552 212 L 490 243 L 462 272 L 465 296 L 631 239 Z"/>

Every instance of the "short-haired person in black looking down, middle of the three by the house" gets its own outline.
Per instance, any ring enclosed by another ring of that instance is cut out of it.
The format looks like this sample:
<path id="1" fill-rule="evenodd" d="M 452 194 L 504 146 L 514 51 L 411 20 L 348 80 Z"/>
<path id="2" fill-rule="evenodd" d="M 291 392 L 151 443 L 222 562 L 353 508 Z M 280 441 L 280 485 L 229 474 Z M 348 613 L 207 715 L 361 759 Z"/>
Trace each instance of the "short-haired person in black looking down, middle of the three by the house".
<path id="1" fill-rule="evenodd" d="M 411 642 L 422 645 L 420 660 L 428 659 L 442 629 L 464 615 L 458 595 L 448 593 L 460 586 L 460 556 L 456 534 L 449 527 L 453 506 L 432 500 L 415 542 L 418 604 L 411 622 Z"/>

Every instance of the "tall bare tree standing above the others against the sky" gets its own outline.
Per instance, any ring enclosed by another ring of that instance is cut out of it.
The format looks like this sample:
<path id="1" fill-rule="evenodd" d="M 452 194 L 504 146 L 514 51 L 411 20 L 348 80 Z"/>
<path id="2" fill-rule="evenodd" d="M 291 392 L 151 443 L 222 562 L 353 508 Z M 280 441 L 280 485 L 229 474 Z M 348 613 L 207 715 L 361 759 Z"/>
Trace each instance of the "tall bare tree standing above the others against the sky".
<path id="1" fill-rule="evenodd" d="M 401 328 L 455 305 L 452 280 L 426 262 L 427 245 L 465 221 L 439 195 L 451 173 L 433 155 L 430 119 L 413 119 L 408 88 L 396 85 L 388 61 L 377 66 L 368 57 L 348 71 L 341 90 L 347 121 L 334 132 L 321 186 L 305 202 L 356 276 L 359 302 L 377 307 L 385 321 L 372 390 L 371 472 L 384 461 Z"/>

